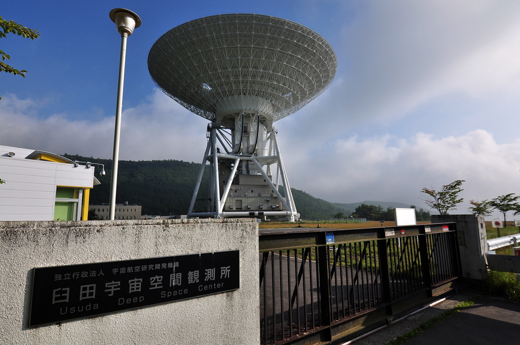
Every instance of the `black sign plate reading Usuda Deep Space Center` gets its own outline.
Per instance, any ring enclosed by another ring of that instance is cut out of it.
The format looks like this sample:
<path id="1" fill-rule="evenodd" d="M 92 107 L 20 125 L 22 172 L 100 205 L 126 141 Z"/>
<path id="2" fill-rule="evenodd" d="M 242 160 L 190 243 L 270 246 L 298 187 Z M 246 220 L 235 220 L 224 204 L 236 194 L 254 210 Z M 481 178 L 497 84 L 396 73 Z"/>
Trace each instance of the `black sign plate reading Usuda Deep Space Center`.
<path id="1" fill-rule="evenodd" d="M 29 326 L 236 290 L 240 251 L 35 268 Z"/>

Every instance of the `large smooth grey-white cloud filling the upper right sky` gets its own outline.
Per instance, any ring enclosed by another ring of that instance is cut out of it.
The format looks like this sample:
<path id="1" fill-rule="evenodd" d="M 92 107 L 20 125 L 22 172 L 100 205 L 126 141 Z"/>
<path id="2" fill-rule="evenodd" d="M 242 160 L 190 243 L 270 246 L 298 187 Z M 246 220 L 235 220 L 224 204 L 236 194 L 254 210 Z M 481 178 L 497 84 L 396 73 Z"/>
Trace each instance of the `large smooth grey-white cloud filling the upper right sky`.
<path id="1" fill-rule="evenodd" d="M 341 7 L 338 74 L 301 111 L 352 126 L 392 123 L 439 97 L 494 99 L 520 91 L 520 3 L 371 1 Z M 497 114 L 500 115 L 500 114 Z M 329 122 L 313 128 L 339 132 Z M 305 129 L 304 129 L 305 130 Z"/>

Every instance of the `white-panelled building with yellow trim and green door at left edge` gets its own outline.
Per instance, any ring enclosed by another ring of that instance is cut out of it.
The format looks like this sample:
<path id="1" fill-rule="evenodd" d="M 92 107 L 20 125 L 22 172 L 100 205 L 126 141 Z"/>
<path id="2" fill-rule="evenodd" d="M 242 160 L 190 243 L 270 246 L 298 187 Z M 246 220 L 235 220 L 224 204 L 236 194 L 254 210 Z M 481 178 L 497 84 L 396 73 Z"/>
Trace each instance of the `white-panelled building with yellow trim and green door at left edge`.
<path id="1" fill-rule="evenodd" d="M 0 145 L 0 220 L 87 220 L 95 165 Z M 104 170 L 102 170 L 104 174 Z"/>

